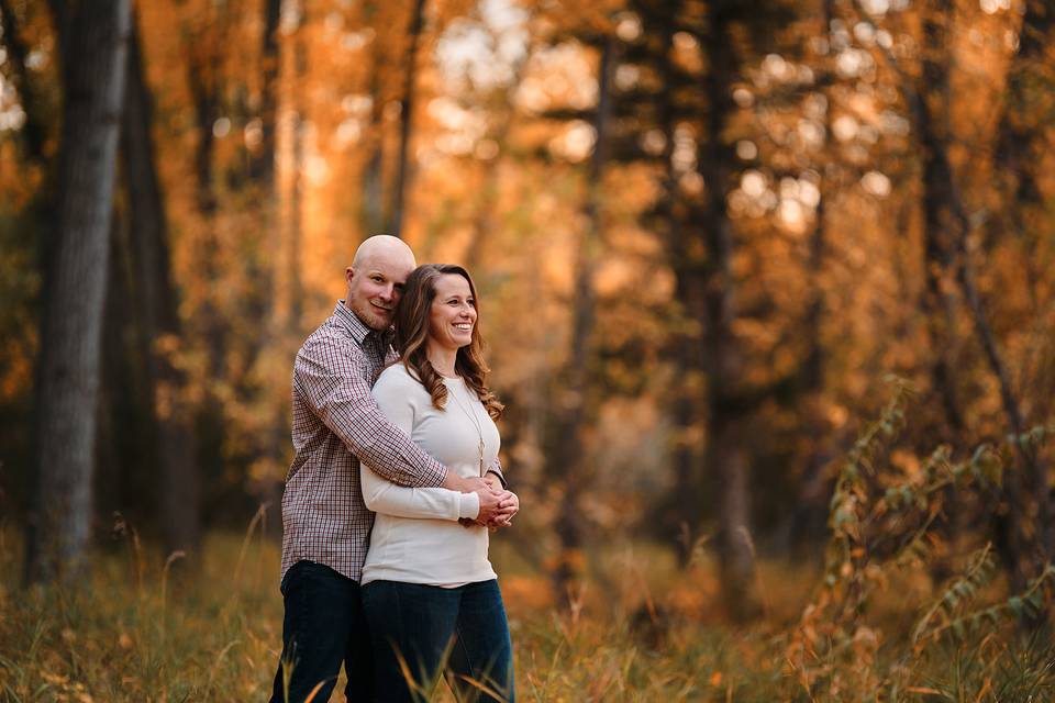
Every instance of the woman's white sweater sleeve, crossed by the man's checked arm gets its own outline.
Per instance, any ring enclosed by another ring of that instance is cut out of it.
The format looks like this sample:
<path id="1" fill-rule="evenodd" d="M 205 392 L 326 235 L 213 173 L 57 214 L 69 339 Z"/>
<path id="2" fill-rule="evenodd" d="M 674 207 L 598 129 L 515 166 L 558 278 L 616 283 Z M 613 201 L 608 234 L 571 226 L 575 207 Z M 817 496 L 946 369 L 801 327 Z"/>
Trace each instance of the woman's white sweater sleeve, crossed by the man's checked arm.
<path id="1" fill-rule="evenodd" d="M 385 416 L 408 435 L 413 432 L 417 408 L 413 389 L 406 388 L 393 375 L 382 377 L 374 386 L 374 397 Z M 363 501 L 376 513 L 397 517 L 432 517 L 440 520 L 476 518 L 480 499 L 476 493 L 459 493 L 442 488 L 396 486 L 378 476 L 365 464 L 359 466 Z"/>

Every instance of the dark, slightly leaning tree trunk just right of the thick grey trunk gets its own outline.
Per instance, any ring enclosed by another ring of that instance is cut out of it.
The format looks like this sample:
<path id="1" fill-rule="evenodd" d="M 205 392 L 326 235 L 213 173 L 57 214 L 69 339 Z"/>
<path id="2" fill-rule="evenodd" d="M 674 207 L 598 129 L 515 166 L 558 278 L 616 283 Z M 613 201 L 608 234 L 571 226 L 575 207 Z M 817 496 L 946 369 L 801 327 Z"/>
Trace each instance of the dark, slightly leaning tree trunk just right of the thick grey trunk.
<path id="1" fill-rule="evenodd" d="M 197 551 L 201 543 L 200 477 L 195 458 L 192 409 L 186 378 L 173 355 L 181 337 L 171 281 L 168 224 L 151 137 L 153 105 L 143 71 L 138 32 L 129 42 L 127 88 L 121 153 L 129 194 L 133 288 L 140 347 L 146 364 L 151 414 L 157 437 L 162 529 L 168 551 Z"/>

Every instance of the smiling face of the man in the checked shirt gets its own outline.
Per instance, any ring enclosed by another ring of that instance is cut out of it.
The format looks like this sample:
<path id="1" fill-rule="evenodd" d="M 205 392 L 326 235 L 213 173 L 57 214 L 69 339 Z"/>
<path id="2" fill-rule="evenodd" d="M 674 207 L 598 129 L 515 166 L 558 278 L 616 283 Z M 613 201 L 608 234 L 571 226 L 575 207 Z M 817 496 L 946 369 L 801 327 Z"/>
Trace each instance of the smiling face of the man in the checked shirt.
<path id="1" fill-rule="evenodd" d="M 348 267 L 348 297 L 345 305 L 378 332 L 388 330 L 396 305 L 403 294 L 403 283 L 414 270 L 414 260 L 403 252 L 378 252 L 364 258 L 358 268 Z"/>

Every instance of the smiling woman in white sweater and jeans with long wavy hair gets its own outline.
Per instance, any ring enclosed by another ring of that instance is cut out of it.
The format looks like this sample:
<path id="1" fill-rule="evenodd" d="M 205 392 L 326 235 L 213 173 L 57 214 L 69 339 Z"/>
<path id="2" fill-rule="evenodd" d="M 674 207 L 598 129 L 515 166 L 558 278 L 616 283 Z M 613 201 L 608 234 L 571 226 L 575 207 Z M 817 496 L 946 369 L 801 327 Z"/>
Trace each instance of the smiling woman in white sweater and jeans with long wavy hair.
<path id="1" fill-rule="evenodd" d="M 401 362 L 374 386 L 392 423 L 465 477 L 485 476 L 498 456 L 502 411 L 487 388 L 477 319 L 468 271 L 418 267 L 396 315 Z M 460 700 L 512 701 L 512 644 L 488 531 L 473 522 L 477 494 L 403 488 L 365 465 L 360 479 L 377 513 L 362 580 L 377 700 L 427 699 L 446 673 Z M 506 499 L 511 517 L 519 503 Z"/>

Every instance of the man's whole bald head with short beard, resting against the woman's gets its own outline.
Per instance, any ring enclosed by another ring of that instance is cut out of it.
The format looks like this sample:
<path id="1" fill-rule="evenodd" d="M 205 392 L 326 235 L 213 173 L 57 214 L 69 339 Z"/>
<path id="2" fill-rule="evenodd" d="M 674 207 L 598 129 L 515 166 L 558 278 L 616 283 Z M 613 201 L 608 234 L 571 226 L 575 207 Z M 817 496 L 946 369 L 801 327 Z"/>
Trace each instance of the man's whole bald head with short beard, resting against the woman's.
<path id="1" fill-rule="evenodd" d="M 344 272 L 348 281 L 345 306 L 371 330 L 387 330 L 414 266 L 414 253 L 402 239 L 387 234 L 369 237 L 355 250 L 352 266 Z"/>

